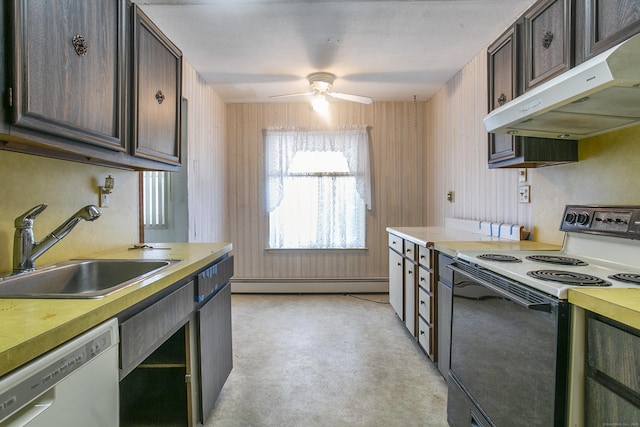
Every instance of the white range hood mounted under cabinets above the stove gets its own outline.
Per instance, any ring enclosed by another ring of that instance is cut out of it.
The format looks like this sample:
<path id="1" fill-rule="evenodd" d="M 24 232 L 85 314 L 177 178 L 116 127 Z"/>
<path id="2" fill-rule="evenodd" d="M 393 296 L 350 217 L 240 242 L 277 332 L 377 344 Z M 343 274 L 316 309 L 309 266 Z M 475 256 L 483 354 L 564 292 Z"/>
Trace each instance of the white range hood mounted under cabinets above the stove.
<path id="1" fill-rule="evenodd" d="M 484 119 L 491 133 L 574 140 L 635 125 L 640 125 L 640 34 Z"/>

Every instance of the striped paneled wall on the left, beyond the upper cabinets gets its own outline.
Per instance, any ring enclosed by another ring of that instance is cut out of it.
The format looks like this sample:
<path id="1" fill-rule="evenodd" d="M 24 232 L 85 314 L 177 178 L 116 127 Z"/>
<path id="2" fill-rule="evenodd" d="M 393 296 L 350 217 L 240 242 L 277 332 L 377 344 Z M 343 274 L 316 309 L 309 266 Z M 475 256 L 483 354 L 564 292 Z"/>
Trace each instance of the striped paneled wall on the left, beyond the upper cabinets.
<path id="1" fill-rule="evenodd" d="M 183 62 L 182 94 L 188 102 L 187 161 L 189 242 L 229 241 L 226 209 L 226 106 L 196 71 Z M 184 124 L 183 124 L 184 125 Z"/>

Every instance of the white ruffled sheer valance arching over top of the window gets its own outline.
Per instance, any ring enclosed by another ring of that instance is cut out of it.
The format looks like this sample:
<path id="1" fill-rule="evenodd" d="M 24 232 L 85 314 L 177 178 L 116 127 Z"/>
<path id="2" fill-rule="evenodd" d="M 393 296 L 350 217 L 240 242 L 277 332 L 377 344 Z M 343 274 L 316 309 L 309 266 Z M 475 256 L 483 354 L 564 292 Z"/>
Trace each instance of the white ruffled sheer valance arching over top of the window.
<path id="1" fill-rule="evenodd" d="M 355 176 L 356 191 L 371 209 L 371 168 L 369 164 L 369 128 L 346 130 L 264 130 L 267 175 L 266 207 L 272 212 L 284 197 L 284 177 L 296 153 L 336 151 L 347 159 Z"/>

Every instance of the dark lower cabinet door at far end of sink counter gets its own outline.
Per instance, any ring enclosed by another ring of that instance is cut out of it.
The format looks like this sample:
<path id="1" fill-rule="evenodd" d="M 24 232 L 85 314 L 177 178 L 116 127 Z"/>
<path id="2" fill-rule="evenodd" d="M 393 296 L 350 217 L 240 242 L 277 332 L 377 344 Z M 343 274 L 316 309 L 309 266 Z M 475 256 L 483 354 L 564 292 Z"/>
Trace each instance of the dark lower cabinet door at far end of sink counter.
<path id="1" fill-rule="evenodd" d="M 227 283 L 197 310 L 200 415 L 204 423 L 233 368 L 231 285 Z"/>

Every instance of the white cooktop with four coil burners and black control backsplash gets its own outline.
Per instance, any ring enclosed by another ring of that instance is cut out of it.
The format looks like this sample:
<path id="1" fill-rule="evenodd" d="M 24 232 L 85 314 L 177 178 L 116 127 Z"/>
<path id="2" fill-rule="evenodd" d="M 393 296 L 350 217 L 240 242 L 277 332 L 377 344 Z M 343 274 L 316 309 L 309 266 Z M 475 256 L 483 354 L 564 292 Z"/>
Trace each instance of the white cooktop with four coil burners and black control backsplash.
<path id="1" fill-rule="evenodd" d="M 460 251 L 456 257 L 558 299 L 572 287 L 640 288 L 640 206 L 565 207 L 558 251 Z"/>

